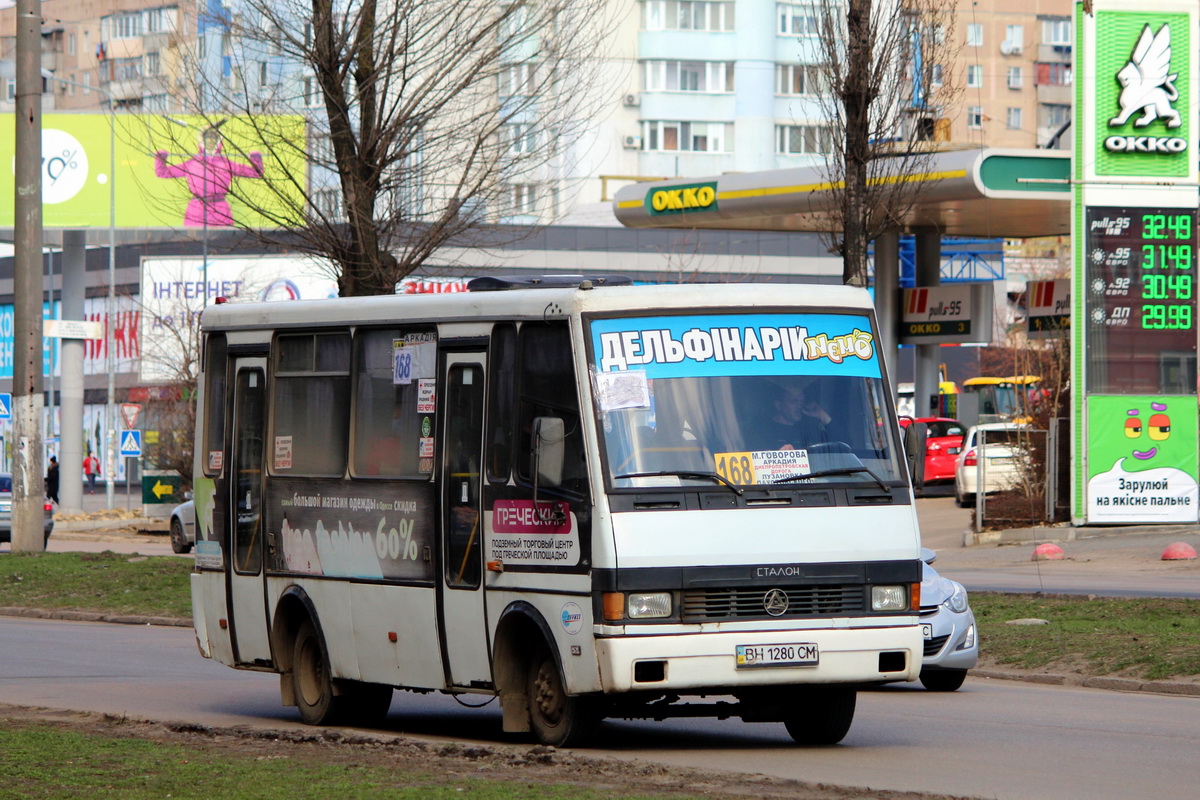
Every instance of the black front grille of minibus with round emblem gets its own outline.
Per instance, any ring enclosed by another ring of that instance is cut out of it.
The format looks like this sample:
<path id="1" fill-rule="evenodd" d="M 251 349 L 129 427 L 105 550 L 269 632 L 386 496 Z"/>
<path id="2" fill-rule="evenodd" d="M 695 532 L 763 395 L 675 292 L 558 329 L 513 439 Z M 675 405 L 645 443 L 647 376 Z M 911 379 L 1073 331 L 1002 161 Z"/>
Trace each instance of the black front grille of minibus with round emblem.
<path id="1" fill-rule="evenodd" d="M 767 612 L 768 591 L 762 587 L 701 589 L 683 593 L 683 621 L 707 622 L 724 619 L 794 619 L 799 616 L 841 616 L 865 610 L 862 584 L 820 587 L 778 587 L 787 595 L 782 613 Z M 778 595 L 774 597 L 778 609 Z"/>

